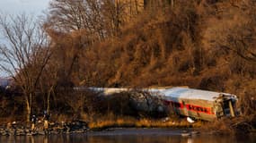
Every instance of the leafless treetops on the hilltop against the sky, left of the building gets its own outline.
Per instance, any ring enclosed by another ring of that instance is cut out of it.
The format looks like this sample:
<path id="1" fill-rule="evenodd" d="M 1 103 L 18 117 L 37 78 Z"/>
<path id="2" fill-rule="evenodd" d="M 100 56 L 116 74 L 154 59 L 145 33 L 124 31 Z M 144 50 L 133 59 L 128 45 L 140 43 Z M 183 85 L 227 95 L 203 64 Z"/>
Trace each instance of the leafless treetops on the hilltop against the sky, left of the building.
<path id="1" fill-rule="evenodd" d="M 53 0 L 47 24 L 62 32 L 84 29 L 88 38 L 102 40 L 117 35 L 125 7 L 128 3 L 121 0 Z"/>

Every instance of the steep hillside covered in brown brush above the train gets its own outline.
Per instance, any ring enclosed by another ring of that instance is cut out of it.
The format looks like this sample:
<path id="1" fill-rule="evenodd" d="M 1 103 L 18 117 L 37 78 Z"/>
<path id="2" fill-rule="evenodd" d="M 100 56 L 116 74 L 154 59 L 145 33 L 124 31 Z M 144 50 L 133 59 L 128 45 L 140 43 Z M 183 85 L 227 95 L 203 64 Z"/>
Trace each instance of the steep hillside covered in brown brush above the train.
<path id="1" fill-rule="evenodd" d="M 254 37 L 254 23 L 247 14 L 251 10 L 243 9 L 250 5 L 176 6 L 142 13 L 121 30 L 119 38 L 86 49 L 80 62 L 82 85 L 186 85 L 235 94 L 237 89 L 255 87 L 255 56 L 254 61 L 244 57 L 251 56 L 246 50 L 255 52 L 254 42 L 243 38 Z"/>

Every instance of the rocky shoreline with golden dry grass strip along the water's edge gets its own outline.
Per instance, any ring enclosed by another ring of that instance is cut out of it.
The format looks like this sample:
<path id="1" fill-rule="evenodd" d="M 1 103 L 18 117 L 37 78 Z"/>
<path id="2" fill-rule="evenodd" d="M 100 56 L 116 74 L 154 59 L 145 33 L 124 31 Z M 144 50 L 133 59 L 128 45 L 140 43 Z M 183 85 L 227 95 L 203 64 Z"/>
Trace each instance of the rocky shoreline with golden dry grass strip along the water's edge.
<path id="1" fill-rule="evenodd" d="M 49 122 L 49 128 L 44 129 L 43 121 L 35 124 L 35 130 L 31 130 L 31 122 L 9 122 L 0 124 L 0 136 L 48 136 L 48 135 L 68 135 L 68 134 L 86 134 L 86 135 L 122 135 L 122 134 L 157 134 L 158 131 L 164 134 L 181 135 L 182 137 L 204 134 L 204 135 L 232 135 L 231 132 L 225 130 L 215 130 L 200 128 L 206 124 L 202 122 L 183 122 L 183 121 L 154 121 L 154 120 L 139 120 L 137 122 L 126 120 L 109 120 L 106 121 L 73 121 L 73 122 Z M 172 131 L 174 130 L 174 134 Z M 171 133 L 169 132 L 171 131 Z M 245 133 L 255 134 L 253 130 Z"/>

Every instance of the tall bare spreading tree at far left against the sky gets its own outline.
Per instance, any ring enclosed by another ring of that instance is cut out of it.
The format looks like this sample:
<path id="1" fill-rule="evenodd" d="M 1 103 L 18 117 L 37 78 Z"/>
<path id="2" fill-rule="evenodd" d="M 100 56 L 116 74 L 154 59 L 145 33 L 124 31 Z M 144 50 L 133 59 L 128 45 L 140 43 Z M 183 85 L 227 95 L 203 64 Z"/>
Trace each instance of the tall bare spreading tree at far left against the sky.
<path id="1" fill-rule="evenodd" d="M 50 57 L 48 38 L 40 24 L 25 14 L 1 15 L 0 29 L 4 36 L 0 46 L 0 68 L 22 89 L 29 121 L 32 99 Z"/>

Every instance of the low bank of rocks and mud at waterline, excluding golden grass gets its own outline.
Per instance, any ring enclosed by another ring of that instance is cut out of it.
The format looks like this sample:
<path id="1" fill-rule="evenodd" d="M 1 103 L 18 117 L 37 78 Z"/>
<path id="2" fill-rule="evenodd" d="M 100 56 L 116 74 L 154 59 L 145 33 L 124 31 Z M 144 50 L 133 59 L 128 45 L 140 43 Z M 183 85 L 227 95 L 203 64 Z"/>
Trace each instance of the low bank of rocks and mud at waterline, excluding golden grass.
<path id="1" fill-rule="evenodd" d="M 0 124 L 0 136 L 48 136 L 48 135 L 60 135 L 60 134 L 80 134 L 85 133 L 87 135 L 111 135 L 115 134 L 133 134 L 134 132 L 155 134 L 157 131 L 165 130 L 176 130 L 181 134 L 181 132 L 191 135 L 191 130 L 195 128 L 190 128 L 186 126 L 181 126 L 177 123 L 176 126 L 172 127 L 136 127 L 136 126 L 122 126 L 122 125 L 112 125 L 99 128 L 89 128 L 88 122 L 75 121 L 75 122 L 50 122 L 49 129 L 45 130 L 43 127 L 43 122 L 38 122 L 35 124 L 35 129 L 31 130 L 31 123 L 24 122 L 12 122 L 7 124 Z M 182 130 L 182 131 L 181 131 Z M 172 132 L 172 131 L 171 131 Z M 197 131 L 198 133 L 199 131 Z M 193 132 L 195 133 L 195 132 Z M 168 133 L 167 133 L 168 134 Z M 172 133 L 172 135 L 175 135 Z"/>

